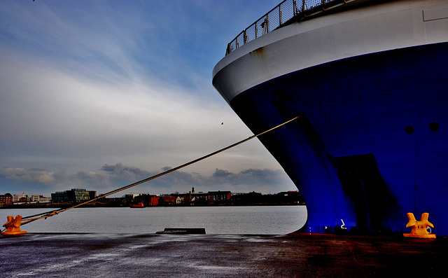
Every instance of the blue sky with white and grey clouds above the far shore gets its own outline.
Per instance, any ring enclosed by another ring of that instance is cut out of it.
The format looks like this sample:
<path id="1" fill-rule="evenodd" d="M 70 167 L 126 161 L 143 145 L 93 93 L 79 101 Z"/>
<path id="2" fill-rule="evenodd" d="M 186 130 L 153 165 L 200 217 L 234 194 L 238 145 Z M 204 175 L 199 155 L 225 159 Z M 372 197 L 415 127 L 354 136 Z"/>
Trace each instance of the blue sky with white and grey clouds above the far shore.
<path id="1" fill-rule="evenodd" d="M 105 193 L 253 135 L 211 71 L 278 2 L 1 1 L 0 194 Z M 295 190 L 253 139 L 123 193 L 192 186 Z"/>

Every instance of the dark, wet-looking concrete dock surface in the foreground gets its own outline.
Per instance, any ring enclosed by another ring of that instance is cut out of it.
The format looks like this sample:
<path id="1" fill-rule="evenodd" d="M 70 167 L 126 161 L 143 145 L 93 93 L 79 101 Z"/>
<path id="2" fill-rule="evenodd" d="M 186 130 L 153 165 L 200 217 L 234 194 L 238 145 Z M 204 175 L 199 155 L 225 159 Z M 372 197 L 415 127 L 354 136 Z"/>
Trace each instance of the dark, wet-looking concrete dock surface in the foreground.
<path id="1" fill-rule="evenodd" d="M 28 233 L 0 277 L 447 277 L 448 238 Z"/>

